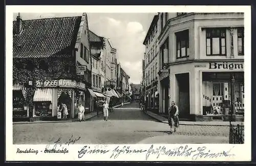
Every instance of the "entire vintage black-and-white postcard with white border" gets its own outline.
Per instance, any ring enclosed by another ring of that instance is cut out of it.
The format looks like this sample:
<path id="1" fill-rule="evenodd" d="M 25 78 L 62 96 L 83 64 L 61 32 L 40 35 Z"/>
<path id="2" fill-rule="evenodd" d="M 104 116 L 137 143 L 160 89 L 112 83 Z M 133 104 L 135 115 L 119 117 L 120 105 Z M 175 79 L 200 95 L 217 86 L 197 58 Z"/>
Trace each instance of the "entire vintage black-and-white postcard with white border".
<path id="1" fill-rule="evenodd" d="M 6 6 L 6 161 L 250 161 L 250 6 Z"/>

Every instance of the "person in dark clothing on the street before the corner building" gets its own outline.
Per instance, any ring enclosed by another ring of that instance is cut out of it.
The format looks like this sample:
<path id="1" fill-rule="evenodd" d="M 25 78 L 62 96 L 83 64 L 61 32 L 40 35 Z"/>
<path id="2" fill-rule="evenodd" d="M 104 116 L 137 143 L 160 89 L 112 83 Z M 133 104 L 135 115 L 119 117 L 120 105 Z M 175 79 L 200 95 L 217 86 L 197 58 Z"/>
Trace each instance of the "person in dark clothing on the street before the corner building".
<path id="1" fill-rule="evenodd" d="M 179 109 L 178 106 L 174 101 L 172 101 L 172 106 L 169 107 L 169 114 L 168 114 L 168 124 L 170 126 L 170 133 L 173 133 L 173 131 L 176 131 L 176 128 L 179 126 Z"/>

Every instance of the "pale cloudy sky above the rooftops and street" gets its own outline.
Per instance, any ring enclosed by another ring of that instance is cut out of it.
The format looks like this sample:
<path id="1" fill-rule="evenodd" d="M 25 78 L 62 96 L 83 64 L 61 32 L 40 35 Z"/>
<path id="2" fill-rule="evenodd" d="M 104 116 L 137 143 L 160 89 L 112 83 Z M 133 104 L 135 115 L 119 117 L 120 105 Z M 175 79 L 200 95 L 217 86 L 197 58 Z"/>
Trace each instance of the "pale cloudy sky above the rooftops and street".
<path id="1" fill-rule="evenodd" d="M 154 15 L 157 13 L 88 13 L 89 30 L 111 40 L 117 49 L 117 61 L 130 75 L 130 82 L 139 84 L 142 77 L 142 44 Z M 82 13 L 20 13 L 23 20 L 81 16 Z M 13 15 L 13 20 L 17 14 Z"/>

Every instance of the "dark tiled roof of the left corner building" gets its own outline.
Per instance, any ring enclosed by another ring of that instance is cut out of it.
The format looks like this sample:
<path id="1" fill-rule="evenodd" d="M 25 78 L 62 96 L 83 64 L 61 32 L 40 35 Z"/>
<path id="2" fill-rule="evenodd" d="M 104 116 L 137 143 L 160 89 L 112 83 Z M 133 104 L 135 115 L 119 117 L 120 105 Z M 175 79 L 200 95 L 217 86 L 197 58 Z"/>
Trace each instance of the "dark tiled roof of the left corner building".
<path id="1" fill-rule="evenodd" d="M 81 17 L 23 20 L 23 30 L 15 34 L 13 58 L 71 57 Z"/>

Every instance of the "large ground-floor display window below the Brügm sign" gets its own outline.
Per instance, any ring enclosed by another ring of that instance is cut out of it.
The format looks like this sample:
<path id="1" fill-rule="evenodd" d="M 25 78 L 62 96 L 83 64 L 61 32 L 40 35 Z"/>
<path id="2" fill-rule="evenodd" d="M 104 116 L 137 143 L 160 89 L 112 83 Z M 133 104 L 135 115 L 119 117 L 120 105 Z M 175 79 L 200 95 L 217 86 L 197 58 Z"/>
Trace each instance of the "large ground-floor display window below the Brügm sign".
<path id="1" fill-rule="evenodd" d="M 203 115 L 244 114 L 244 72 L 203 72 Z"/>

